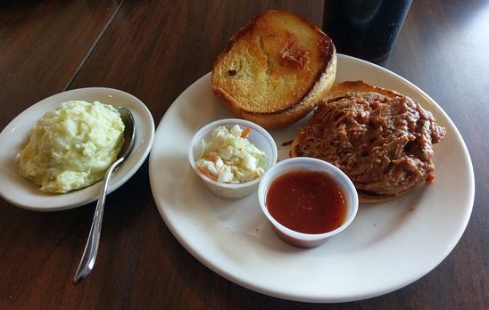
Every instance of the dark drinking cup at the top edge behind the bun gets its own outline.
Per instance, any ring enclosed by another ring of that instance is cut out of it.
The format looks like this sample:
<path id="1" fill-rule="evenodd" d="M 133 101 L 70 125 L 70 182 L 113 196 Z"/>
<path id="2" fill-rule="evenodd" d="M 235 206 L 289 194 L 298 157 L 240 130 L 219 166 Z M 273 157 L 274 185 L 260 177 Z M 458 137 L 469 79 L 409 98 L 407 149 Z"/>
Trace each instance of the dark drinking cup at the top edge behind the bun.
<path id="1" fill-rule="evenodd" d="M 383 61 L 391 52 L 412 0 L 326 0 L 323 30 L 338 53 Z"/>

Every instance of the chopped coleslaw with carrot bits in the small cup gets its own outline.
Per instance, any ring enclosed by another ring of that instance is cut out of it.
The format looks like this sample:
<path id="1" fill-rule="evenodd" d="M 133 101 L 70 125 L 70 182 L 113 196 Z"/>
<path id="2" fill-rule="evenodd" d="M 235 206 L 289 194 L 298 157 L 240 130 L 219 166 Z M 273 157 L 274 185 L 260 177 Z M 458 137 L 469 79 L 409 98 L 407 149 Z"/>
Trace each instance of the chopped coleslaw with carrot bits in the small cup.
<path id="1" fill-rule="evenodd" d="M 195 163 L 203 175 L 220 183 L 241 184 L 264 173 L 265 153 L 247 139 L 250 128 L 235 125 L 214 129 L 211 140 L 202 141 L 202 151 Z"/>

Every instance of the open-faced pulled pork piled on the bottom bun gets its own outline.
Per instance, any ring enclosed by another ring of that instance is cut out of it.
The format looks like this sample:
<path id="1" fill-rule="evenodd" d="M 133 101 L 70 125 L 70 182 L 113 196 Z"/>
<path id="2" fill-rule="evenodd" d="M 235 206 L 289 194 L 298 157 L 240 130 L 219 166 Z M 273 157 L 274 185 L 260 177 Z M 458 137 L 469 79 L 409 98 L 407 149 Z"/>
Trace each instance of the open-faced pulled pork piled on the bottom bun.
<path id="1" fill-rule="evenodd" d="M 290 156 L 324 159 L 348 175 L 361 202 L 391 200 L 435 181 L 433 144 L 445 129 L 410 97 L 349 81 L 333 86 L 295 135 Z"/>

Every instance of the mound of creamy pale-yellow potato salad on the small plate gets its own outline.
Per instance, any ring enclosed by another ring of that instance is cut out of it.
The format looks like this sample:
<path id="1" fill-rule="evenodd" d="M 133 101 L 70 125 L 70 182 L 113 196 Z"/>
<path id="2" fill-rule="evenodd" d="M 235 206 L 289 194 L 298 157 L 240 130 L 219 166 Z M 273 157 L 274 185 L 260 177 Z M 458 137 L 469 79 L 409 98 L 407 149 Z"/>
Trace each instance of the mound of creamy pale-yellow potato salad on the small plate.
<path id="1" fill-rule="evenodd" d="M 42 192 L 70 192 L 95 184 L 124 142 L 119 112 L 101 102 L 62 102 L 31 129 L 19 157 L 21 175 Z"/>

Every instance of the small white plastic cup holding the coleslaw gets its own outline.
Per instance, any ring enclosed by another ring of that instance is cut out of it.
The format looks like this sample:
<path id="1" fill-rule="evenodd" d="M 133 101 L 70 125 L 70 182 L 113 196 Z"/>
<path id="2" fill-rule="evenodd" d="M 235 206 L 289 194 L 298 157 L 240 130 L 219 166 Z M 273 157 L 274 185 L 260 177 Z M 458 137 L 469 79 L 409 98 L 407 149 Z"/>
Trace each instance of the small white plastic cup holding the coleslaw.
<path id="1" fill-rule="evenodd" d="M 219 126 L 226 126 L 228 129 L 230 129 L 236 124 L 242 129 L 245 129 L 245 127 L 250 127 L 252 129 L 250 135 L 248 136 L 248 141 L 253 143 L 259 150 L 265 152 L 267 159 L 265 171 L 269 169 L 269 167 L 275 165 L 277 162 L 278 151 L 277 144 L 273 140 L 272 136 L 269 135 L 269 133 L 261 126 L 240 118 L 220 119 L 203 126 L 195 133 L 188 149 L 188 161 L 190 162 L 190 165 L 194 169 L 195 173 L 203 180 L 203 183 L 207 186 L 209 191 L 220 198 L 231 200 L 241 199 L 253 192 L 256 192 L 258 189 L 258 184 L 260 184 L 261 177 L 244 184 L 224 184 L 216 182 L 200 173 L 195 166 L 195 162 L 198 160 L 197 156 L 200 151 L 200 142 L 202 140 L 209 141 L 213 129 Z"/>

